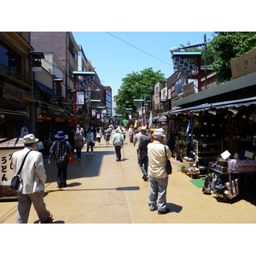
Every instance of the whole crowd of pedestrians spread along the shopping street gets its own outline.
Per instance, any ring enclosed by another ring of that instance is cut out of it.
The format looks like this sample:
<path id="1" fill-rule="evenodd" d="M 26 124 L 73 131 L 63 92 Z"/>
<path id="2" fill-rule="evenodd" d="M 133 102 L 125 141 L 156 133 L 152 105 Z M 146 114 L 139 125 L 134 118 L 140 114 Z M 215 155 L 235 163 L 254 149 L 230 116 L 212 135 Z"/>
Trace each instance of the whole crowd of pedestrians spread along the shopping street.
<path id="1" fill-rule="evenodd" d="M 48 162 L 55 161 L 57 167 L 56 182 L 58 188 L 67 186 L 67 154 L 76 154 L 77 160 L 81 160 L 82 148 L 86 144 L 86 155 L 93 154 L 93 147 L 97 142 L 101 145 L 102 137 L 109 145 L 112 140 L 116 155 L 116 161 L 122 159 L 121 148 L 125 142 L 125 129 L 119 125 L 113 134 L 113 126 L 106 129 L 90 127 L 85 130 L 81 125 L 71 127 L 68 134 L 58 131 L 55 134 L 55 142 L 49 149 Z M 154 211 L 157 207 L 159 214 L 165 214 L 170 210 L 166 208 L 166 188 L 168 184 L 168 174 L 166 173 L 166 158 L 170 159 L 172 152 L 168 146 L 163 145 L 163 138 L 166 137 L 162 129 L 155 129 L 150 138 L 146 126 L 133 127 L 128 130 L 129 141 L 136 148 L 137 164 L 143 173 L 143 180 L 149 184 L 148 207 Z M 153 140 L 151 142 L 151 140 Z M 49 223 L 52 214 L 46 209 L 44 204 L 44 183 L 46 174 L 44 170 L 43 154 L 37 151 L 38 139 L 33 134 L 24 137 L 25 148 L 13 154 L 12 160 L 15 173 L 18 172 L 24 155 L 30 151 L 32 154 L 26 160 L 26 170 L 20 174 L 20 187 L 18 189 L 17 223 L 27 223 L 31 204 L 38 212 L 41 223 Z"/>

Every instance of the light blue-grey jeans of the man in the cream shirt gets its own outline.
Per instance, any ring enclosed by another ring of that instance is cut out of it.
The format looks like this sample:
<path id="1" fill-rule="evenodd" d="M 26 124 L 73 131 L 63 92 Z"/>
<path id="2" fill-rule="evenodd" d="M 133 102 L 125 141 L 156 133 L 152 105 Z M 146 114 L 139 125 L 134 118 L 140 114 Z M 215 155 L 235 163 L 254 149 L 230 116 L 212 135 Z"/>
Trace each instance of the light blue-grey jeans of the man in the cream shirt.
<path id="1" fill-rule="evenodd" d="M 166 189 L 168 185 L 168 177 L 148 177 L 149 181 L 149 196 L 148 206 L 156 207 L 156 201 L 158 199 L 158 211 L 166 211 Z"/>

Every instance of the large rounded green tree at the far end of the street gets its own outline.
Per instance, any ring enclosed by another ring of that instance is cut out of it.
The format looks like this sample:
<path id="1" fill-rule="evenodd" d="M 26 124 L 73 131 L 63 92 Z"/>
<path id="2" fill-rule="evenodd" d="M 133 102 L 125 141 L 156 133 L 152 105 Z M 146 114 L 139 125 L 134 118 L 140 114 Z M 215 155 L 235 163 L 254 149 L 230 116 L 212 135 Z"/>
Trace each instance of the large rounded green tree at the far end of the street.
<path id="1" fill-rule="evenodd" d="M 140 73 L 133 72 L 126 75 L 122 79 L 122 84 L 118 90 L 118 94 L 113 96 L 116 102 L 115 112 L 123 114 L 125 117 L 125 108 L 133 108 L 136 112 L 136 107 L 132 104 L 135 99 L 150 99 L 151 90 L 154 88 L 154 84 L 159 81 L 166 81 L 164 74 L 153 71 L 152 67 L 145 68 Z M 126 103 L 131 102 L 131 103 Z"/>

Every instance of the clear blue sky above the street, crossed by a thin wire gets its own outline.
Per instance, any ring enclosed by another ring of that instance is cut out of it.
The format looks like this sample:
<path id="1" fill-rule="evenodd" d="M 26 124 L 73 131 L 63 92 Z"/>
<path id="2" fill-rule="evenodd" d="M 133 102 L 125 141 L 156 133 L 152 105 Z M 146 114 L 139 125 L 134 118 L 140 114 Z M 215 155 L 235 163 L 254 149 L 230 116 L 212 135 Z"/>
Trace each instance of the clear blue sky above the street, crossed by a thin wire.
<path id="1" fill-rule="evenodd" d="M 166 79 L 170 77 L 170 48 L 201 44 L 204 34 L 207 40 L 212 39 L 212 32 L 73 32 L 102 84 L 112 87 L 113 96 L 128 73 L 153 67 L 155 72 L 164 73 Z"/>

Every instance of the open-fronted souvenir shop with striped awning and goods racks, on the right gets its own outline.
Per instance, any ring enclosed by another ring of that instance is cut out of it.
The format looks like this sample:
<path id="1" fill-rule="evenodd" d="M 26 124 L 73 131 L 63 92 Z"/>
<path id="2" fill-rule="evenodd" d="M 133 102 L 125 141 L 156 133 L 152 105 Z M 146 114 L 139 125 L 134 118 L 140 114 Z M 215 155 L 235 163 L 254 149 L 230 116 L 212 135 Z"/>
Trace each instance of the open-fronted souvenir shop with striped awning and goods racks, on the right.
<path id="1" fill-rule="evenodd" d="M 211 178 L 205 193 L 222 197 L 225 183 L 233 190 L 239 183 L 240 190 L 256 195 L 255 81 L 256 73 L 250 73 L 177 100 L 180 107 L 165 113 L 172 155 L 200 177 Z M 212 178 L 217 189 L 211 188 Z"/>

